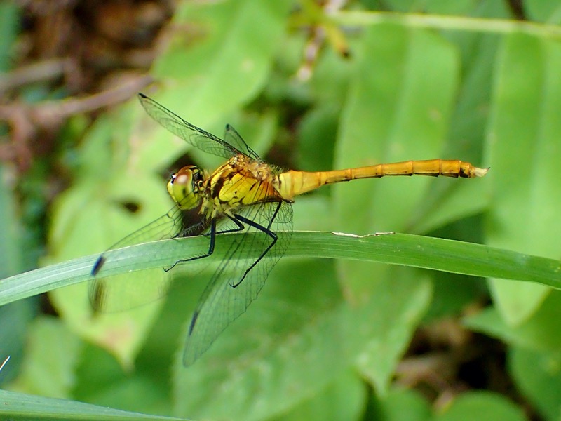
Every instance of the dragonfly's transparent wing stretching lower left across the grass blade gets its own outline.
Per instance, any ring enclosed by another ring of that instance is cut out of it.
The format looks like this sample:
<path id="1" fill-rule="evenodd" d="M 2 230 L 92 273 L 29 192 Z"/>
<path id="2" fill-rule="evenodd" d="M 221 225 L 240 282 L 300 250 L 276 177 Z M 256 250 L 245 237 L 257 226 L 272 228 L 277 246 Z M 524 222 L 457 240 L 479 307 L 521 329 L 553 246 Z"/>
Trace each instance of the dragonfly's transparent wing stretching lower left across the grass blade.
<path id="1" fill-rule="evenodd" d="M 170 276 L 163 268 L 148 269 L 116 276 L 104 276 L 107 262 L 121 257 L 123 250 L 134 244 L 147 243 L 177 236 L 198 234 L 202 223 L 184 227 L 183 211 L 174 206 L 168 213 L 115 243 L 102 253 L 93 267 L 95 278 L 90 281 L 89 299 L 94 312 L 119 312 L 139 307 L 162 298 L 168 293 Z"/>

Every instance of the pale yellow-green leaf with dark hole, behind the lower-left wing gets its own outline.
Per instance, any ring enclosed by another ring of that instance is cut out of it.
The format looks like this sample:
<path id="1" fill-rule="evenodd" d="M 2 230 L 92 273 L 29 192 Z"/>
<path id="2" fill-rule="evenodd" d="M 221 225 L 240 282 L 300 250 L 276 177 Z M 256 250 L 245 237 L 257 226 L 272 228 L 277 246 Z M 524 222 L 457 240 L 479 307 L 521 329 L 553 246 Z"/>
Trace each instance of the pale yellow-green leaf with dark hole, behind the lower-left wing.
<path id="1" fill-rule="evenodd" d="M 134 185 L 128 182 L 131 178 L 135 180 Z M 161 183 L 150 175 L 121 175 L 108 180 L 104 187 L 107 189 L 81 182 L 59 196 L 50 235 L 50 261 L 109 248 L 156 219 L 161 208 L 171 206 Z M 126 203 L 135 203 L 137 211 L 127 210 Z M 88 286 L 83 283 L 55 290 L 50 297 L 62 318 L 81 338 L 109 349 L 123 366 L 132 366 L 161 302 L 132 312 L 92 317 L 87 291 Z"/>

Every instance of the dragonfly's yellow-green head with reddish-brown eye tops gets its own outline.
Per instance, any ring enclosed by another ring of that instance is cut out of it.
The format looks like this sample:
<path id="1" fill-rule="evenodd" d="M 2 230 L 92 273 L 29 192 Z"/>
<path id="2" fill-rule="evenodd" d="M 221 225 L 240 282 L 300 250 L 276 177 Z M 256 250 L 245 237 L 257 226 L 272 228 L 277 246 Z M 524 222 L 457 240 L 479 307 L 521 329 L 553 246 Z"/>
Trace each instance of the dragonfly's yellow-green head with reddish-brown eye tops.
<path id="1" fill-rule="evenodd" d="M 203 172 L 196 166 L 185 166 L 168 181 L 168 193 L 182 209 L 194 209 L 203 199 Z"/>

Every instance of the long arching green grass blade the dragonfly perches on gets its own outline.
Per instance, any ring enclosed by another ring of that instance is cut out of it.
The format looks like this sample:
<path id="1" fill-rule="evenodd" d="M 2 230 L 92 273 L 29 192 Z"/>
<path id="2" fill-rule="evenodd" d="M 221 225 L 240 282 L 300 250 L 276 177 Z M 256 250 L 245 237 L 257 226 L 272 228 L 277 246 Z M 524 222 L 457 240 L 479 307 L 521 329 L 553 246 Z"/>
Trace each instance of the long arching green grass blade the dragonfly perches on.
<path id="1" fill-rule="evenodd" d="M 223 258 L 239 234 L 217 238 L 209 261 Z M 279 234 L 283 235 L 283 234 Z M 194 236 L 131 246 L 104 266 L 106 276 L 154 267 L 170 267 L 182 256 L 208 247 Z M 253 250 L 255 257 L 260 253 Z M 110 257 L 110 255 L 108 255 Z M 147 258 L 149 256 L 149 258 Z M 285 257 L 339 258 L 382 262 L 472 276 L 515 279 L 561 288 L 561 262 L 510 250 L 410 234 L 355 236 L 330 232 L 295 232 Z M 97 255 L 87 256 L 11 276 L 0 281 L 0 305 L 91 279 Z"/>

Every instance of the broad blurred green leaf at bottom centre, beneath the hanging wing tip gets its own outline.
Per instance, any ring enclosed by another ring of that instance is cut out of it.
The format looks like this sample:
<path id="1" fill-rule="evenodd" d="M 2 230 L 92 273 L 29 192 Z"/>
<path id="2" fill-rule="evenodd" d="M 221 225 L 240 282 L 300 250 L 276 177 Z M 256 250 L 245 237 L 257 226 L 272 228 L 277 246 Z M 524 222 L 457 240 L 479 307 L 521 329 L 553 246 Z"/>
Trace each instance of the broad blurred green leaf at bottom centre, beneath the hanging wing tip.
<path id="1" fill-rule="evenodd" d="M 248 312 L 189 370 L 175 370 L 178 414 L 245 420 L 279 415 L 349 367 L 351 348 L 341 322 L 348 310 L 332 262 L 279 266 Z"/>

